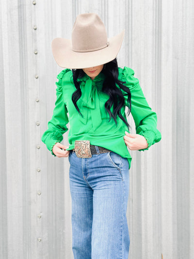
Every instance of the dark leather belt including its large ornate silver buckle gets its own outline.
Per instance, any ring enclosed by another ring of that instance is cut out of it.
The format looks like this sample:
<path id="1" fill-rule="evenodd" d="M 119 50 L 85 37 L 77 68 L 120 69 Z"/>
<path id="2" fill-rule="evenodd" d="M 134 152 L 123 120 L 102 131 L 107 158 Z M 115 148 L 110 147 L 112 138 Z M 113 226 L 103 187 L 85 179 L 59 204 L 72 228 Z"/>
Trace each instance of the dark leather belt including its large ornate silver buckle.
<path id="1" fill-rule="evenodd" d="M 111 152 L 107 148 L 90 145 L 89 140 L 76 140 L 74 151 L 80 158 L 90 158 L 92 155 Z"/>

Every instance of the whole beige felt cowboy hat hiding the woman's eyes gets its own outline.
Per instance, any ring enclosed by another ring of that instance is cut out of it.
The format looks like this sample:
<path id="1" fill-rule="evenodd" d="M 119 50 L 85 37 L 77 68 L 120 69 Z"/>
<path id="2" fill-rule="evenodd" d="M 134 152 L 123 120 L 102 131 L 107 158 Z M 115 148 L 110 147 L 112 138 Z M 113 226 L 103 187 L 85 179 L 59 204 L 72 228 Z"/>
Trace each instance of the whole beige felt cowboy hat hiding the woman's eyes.
<path id="1" fill-rule="evenodd" d="M 67 69 L 96 67 L 113 60 L 118 54 L 125 31 L 108 39 L 105 26 L 97 14 L 78 15 L 72 40 L 55 38 L 52 53 L 57 64 Z"/>

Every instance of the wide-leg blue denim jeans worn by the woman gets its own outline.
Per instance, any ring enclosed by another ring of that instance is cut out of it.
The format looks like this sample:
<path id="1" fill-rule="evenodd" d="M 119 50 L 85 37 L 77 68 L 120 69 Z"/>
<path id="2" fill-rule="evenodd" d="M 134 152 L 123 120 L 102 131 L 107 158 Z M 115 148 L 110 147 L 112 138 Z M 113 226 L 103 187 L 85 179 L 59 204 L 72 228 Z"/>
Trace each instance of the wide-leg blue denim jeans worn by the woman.
<path id="1" fill-rule="evenodd" d="M 71 151 L 69 162 L 74 259 L 128 259 L 128 159 Z"/>

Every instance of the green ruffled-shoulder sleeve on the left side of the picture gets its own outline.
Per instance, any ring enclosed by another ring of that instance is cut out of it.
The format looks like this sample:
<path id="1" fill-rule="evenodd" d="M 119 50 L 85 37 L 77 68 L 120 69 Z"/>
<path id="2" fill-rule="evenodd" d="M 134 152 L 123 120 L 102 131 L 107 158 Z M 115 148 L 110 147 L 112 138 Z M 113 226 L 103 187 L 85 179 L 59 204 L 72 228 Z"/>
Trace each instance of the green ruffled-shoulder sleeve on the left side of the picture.
<path id="1" fill-rule="evenodd" d="M 43 143 L 46 144 L 49 151 L 53 154 L 52 148 L 57 142 L 63 140 L 63 134 L 68 130 L 66 124 L 68 123 L 67 109 L 63 98 L 63 86 L 62 79 L 66 72 L 70 69 L 65 69 L 58 74 L 56 82 L 56 102 L 53 110 L 51 120 L 48 122 L 48 129 L 42 136 Z"/>

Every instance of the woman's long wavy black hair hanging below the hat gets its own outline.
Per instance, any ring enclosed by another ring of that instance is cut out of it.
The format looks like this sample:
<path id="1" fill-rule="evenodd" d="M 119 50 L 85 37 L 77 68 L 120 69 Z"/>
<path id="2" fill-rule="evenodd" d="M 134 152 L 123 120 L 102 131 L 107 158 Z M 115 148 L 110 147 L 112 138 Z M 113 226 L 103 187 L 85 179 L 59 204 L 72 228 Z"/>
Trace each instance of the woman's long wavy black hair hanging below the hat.
<path id="1" fill-rule="evenodd" d="M 85 73 L 82 69 L 72 69 L 72 72 L 73 72 L 73 82 L 76 87 L 76 91 L 72 94 L 72 102 L 75 105 L 79 114 L 81 115 L 80 109 L 77 105 L 77 101 L 81 97 L 80 83 L 77 81 L 77 79 L 81 78 Z M 122 121 L 124 121 L 129 128 L 128 121 L 126 121 L 121 114 L 121 108 L 125 104 L 124 96 L 127 95 L 128 96 L 127 104 L 129 108 L 128 115 L 129 115 L 131 110 L 131 93 L 129 88 L 124 85 L 126 82 L 122 82 L 118 80 L 118 65 L 117 65 L 116 58 L 104 65 L 104 68 L 102 69 L 102 73 L 104 73 L 105 75 L 105 80 L 102 86 L 102 92 L 109 95 L 109 100 L 105 103 L 105 109 L 110 116 L 110 120 L 111 118 L 113 118 L 113 120 L 117 124 L 116 116 L 118 115 L 118 117 Z M 119 87 L 117 87 L 116 84 Z M 121 90 L 123 90 L 124 92 L 122 92 Z M 113 106 L 113 112 L 111 111 L 112 106 Z"/>

